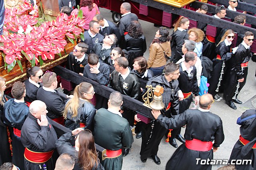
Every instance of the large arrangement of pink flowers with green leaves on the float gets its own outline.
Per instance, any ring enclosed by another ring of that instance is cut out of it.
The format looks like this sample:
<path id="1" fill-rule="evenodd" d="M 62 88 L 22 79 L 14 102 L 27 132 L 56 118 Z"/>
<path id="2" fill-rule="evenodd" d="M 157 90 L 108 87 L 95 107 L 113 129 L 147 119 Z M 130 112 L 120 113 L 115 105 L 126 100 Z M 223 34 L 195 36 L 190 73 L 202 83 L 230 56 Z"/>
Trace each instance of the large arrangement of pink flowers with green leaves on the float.
<path id="1" fill-rule="evenodd" d="M 0 52 L 4 58 L 5 69 L 10 72 L 16 63 L 21 71 L 22 57 L 32 64 L 40 65 L 47 59 L 60 55 L 67 44 L 65 37 L 74 44 L 77 36 L 83 40 L 82 29 L 85 20 L 82 11 L 68 16 L 61 13 L 51 22 L 38 18 L 38 10 L 27 1 L 19 8 L 6 8 L 4 33 L 0 36 Z"/>

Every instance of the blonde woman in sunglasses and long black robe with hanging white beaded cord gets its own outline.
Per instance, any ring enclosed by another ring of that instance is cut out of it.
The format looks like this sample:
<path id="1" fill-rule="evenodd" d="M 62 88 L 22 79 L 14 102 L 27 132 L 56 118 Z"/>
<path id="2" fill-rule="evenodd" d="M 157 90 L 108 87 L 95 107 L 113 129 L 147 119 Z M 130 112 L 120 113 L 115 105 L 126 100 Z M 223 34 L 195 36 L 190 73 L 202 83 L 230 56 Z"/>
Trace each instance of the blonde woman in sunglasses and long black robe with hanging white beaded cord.
<path id="1" fill-rule="evenodd" d="M 215 101 L 221 101 L 222 97 L 220 97 L 217 92 L 220 88 L 220 83 L 224 74 L 225 62 L 228 61 L 232 57 L 232 48 L 231 44 L 235 38 L 235 34 L 233 30 L 227 30 L 225 34 L 222 36 L 220 42 L 216 47 L 217 56 L 212 60 L 213 61 L 213 71 L 212 77 L 208 80 L 210 84 L 208 93 L 212 94 L 213 99 Z"/>

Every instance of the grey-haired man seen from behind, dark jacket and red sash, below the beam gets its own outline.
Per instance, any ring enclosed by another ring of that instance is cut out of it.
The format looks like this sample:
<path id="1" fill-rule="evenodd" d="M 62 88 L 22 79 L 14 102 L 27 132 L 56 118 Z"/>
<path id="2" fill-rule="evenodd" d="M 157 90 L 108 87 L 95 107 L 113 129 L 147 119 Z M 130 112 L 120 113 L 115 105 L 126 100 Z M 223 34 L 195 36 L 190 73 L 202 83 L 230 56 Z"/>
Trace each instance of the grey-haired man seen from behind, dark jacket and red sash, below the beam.
<path id="1" fill-rule="evenodd" d="M 101 161 L 106 170 L 122 169 L 122 147 L 130 148 L 133 142 L 130 125 L 119 112 L 122 100 L 120 92 L 112 92 L 108 109 L 99 109 L 94 117 L 95 143 L 107 150 L 108 157 Z"/>

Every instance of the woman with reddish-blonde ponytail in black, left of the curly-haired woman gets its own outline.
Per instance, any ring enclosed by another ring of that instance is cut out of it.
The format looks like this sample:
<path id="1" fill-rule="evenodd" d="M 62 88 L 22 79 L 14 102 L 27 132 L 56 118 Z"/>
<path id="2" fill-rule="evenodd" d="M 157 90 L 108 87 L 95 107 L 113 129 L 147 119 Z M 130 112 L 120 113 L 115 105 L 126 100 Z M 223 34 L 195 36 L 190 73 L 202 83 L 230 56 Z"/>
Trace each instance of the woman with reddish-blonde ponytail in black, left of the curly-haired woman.
<path id="1" fill-rule="evenodd" d="M 188 40 L 188 27 L 189 20 L 184 16 L 180 16 L 178 21 L 174 25 L 174 30 L 172 33 L 172 61 L 176 63 L 179 59 L 182 58 L 182 45 L 184 40 Z"/>

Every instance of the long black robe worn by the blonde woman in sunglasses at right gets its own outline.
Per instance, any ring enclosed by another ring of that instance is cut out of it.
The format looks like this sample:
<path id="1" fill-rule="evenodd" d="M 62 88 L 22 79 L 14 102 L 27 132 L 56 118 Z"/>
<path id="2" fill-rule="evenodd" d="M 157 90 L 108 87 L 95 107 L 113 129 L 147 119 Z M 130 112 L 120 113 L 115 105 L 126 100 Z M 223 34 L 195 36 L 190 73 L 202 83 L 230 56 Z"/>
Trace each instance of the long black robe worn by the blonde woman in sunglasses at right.
<path id="1" fill-rule="evenodd" d="M 220 73 L 222 70 L 222 65 L 225 61 L 231 58 L 232 56 L 232 51 L 231 51 L 231 45 L 226 46 L 225 42 L 221 42 L 217 47 L 216 47 L 216 53 L 220 55 L 221 59 L 217 59 L 215 57 L 213 59 L 213 70 L 211 73 L 211 78 L 208 80 L 208 83 L 210 84 L 208 88 L 208 93 L 212 94 L 212 96 L 216 95 L 216 88 L 219 83 L 220 79 Z M 224 70 L 223 70 L 224 71 Z M 222 74 L 224 76 L 224 73 Z M 222 77 L 223 79 L 223 77 Z"/>

